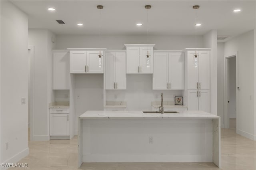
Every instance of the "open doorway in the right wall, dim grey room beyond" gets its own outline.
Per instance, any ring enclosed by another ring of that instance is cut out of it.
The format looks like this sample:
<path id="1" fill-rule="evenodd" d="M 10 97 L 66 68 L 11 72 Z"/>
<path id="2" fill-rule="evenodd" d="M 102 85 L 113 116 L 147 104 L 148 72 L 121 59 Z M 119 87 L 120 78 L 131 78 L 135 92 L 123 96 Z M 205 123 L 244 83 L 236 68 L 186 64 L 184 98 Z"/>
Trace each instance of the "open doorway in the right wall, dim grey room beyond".
<path id="1" fill-rule="evenodd" d="M 224 128 L 236 128 L 238 57 L 225 58 Z"/>

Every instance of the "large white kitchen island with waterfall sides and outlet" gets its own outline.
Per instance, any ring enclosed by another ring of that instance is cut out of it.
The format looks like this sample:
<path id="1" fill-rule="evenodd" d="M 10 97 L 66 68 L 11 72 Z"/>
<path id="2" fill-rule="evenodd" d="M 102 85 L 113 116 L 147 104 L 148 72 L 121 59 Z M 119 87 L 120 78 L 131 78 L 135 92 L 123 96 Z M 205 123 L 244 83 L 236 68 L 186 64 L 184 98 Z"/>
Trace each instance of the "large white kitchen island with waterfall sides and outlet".
<path id="1" fill-rule="evenodd" d="M 203 111 L 87 111 L 79 117 L 82 162 L 213 162 L 220 167 L 220 117 Z"/>

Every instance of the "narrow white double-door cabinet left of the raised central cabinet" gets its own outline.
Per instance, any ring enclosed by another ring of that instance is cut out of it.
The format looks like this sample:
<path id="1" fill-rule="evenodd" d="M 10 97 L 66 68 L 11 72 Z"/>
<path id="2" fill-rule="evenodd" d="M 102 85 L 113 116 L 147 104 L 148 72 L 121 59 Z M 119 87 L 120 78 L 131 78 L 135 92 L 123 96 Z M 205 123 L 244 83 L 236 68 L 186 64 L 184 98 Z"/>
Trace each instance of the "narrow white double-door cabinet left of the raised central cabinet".
<path id="1" fill-rule="evenodd" d="M 124 50 L 106 52 L 105 89 L 126 89 L 126 53 Z"/>

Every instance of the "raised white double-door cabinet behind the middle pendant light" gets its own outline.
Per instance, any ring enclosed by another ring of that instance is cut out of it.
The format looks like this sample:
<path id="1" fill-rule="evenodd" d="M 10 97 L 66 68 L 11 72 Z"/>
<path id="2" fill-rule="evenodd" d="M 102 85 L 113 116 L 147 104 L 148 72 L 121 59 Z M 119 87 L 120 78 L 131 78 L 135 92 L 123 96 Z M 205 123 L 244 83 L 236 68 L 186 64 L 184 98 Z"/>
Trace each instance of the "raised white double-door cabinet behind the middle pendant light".
<path id="1" fill-rule="evenodd" d="M 153 73 L 154 44 L 124 44 L 126 46 L 126 73 Z M 147 56 L 149 60 L 147 60 Z"/>

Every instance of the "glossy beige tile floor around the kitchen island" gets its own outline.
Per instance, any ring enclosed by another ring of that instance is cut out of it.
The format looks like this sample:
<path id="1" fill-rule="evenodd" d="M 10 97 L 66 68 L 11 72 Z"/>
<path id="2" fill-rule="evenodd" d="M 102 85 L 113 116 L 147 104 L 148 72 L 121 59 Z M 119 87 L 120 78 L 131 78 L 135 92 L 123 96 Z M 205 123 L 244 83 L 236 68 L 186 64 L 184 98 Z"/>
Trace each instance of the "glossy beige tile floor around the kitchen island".
<path id="1" fill-rule="evenodd" d="M 30 153 L 20 163 L 28 168 L 9 170 L 79 170 L 77 136 L 71 140 L 29 141 Z M 256 141 L 244 138 L 235 128 L 221 130 L 221 168 L 213 163 L 84 163 L 82 170 L 256 170 Z"/>

